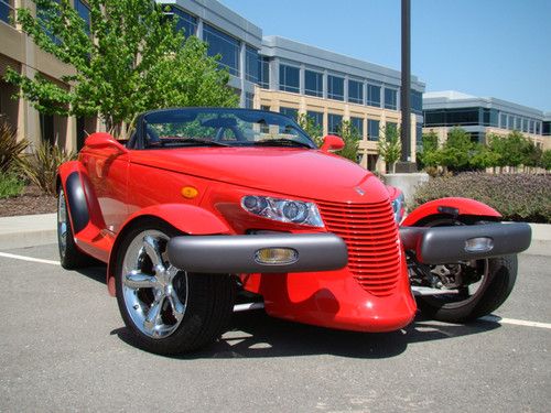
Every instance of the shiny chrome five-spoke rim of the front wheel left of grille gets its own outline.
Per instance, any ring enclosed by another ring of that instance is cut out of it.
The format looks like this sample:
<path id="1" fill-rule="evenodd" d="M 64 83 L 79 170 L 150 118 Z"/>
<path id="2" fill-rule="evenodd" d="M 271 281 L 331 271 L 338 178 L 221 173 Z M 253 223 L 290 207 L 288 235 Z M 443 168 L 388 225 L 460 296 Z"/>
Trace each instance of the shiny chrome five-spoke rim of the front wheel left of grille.
<path id="1" fill-rule="evenodd" d="M 134 326 L 151 338 L 174 333 L 187 304 L 187 274 L 169 263 L 169 237 L 158 230 L 140 232 L 122 262 L 122 294 Z"/>

